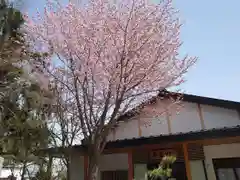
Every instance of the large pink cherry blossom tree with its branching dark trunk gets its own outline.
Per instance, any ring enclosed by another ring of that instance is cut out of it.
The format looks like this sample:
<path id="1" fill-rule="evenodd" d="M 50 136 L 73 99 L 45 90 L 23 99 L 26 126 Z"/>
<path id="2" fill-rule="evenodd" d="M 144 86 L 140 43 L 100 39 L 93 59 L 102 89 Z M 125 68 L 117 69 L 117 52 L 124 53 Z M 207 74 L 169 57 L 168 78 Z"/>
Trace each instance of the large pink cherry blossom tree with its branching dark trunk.
<path id="1" fill-rule="evenodd" d="M 26 20 L 32 49 L 51 54 L 34 59 L 32 66 L 47 79 L 43 87 L 61 93 L 66 121 L 74 118 L 81 128 L 91 180 L 118 118 L 161 90 L 179 86 L 196 61 L 179 56 L 181 23 L 171 0 L 49 2 L 43 15 Z"/>

